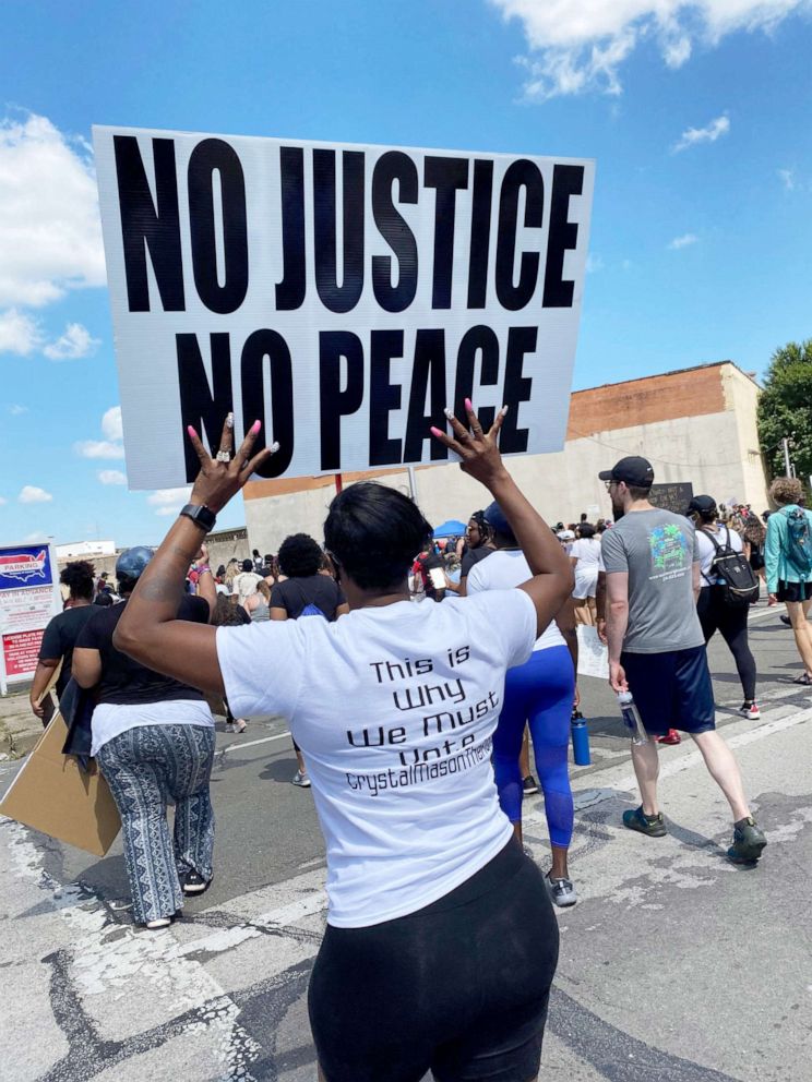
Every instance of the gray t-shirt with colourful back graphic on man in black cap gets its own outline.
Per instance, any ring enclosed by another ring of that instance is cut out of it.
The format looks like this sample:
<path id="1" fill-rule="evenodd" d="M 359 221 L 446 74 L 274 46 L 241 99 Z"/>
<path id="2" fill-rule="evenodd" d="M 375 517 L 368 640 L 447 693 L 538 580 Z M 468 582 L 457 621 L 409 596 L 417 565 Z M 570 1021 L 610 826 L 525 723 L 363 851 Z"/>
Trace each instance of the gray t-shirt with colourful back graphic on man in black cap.
<path id="1" fill-rule="evenodd" d="M 607 574 L 629 572 L 629 627 L 623 649 L 665 653 L 702 646 L 693 594 L 698 561 L 691 522 L 670 510 L 633 510 L 604 534 Z"/>

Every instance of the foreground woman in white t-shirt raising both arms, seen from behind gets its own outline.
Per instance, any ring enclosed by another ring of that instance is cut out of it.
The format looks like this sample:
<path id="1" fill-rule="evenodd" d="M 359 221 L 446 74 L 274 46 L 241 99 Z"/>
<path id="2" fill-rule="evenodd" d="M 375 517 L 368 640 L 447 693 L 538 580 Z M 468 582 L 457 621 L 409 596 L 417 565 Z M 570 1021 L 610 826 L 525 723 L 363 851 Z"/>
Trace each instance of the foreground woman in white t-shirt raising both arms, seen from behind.
<path id="1" fill-rule="evenodd" d="M 558 929 L 541 873 L 499 802 L 490 765 L 507 668 L 524 663 L 572 591 L 566 556 L 467 407 L 432 434 L 499 501 L 532 577 L 518 589 L 409 602 L 431 528 L 378 484 L 333 501 L 324 527 L 349 613 L 215 630 L 176 620 L 215 514 L 271 450 L 259 422 L 231 458 L 227 421 L 142 576 L 117 645 L 240 713 L 282 713 L 304 753 L 327 849 L 329 913 L 309 990 L 326 1082 L 536 1078 Z M 230 459 L 230 460 L 229 460 Z"/>

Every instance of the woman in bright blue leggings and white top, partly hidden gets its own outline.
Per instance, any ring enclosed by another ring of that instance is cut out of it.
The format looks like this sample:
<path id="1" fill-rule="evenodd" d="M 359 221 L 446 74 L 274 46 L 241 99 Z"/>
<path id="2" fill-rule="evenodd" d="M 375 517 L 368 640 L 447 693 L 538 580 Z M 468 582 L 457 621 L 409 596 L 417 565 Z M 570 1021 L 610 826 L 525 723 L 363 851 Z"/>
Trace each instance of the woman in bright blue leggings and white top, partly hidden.
<path id="1" fill-rule="evenodd" d="M 468 574 L 467 592 L 511 589 L 526 582 L 530 572 L 507 521 L 495 504 L 486 510 L 495 532 L 497 551 Z M 557 905 L 574 905 L 568 851 L 572 841 L 573 801 L 568 752 L 570 719 L 575 701 L 577 638 L 570 603 L 538 638 L 529 661 L 509 669 L 504 705 L 493 734 L 493 772 L 499 803 L 522 840 L 522 772 L 518 756 L 525 725 L 530 726 L 536 770 L 545 796 L 552 867 L 547 876 Z"/>

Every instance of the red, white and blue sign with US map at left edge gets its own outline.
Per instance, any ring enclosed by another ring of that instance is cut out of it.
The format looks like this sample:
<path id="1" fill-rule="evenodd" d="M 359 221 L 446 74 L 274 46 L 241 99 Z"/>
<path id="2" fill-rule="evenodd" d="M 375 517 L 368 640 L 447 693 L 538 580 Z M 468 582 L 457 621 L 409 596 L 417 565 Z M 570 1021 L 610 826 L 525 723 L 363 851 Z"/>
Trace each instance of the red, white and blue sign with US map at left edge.
<path id="1" fill-rule="evenodd" d="M 62 611 L 50 545 L 0 549 L 0 694 L 31 680 L 51 616 Z"/>

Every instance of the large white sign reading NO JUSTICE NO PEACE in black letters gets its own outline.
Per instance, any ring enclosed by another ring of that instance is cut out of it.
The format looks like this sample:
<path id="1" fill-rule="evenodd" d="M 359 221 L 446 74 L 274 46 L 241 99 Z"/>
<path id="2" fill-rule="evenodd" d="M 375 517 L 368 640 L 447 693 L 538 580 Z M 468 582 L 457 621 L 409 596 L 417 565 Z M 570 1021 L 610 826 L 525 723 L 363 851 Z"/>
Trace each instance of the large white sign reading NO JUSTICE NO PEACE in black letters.
<path id="1" fill-rule="evenodd" d="M 442 462 L 502 405 L 558 450 L 594 163 L 94 128 L 131 489 L 259 419 L 262 477 Z"/>

